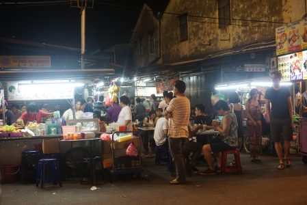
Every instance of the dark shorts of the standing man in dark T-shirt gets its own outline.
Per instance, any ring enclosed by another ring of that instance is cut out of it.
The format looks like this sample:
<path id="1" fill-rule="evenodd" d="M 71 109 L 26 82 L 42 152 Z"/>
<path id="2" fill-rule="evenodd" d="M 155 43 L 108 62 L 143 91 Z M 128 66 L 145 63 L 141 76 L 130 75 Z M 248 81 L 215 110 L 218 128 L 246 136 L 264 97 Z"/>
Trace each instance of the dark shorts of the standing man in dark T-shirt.
<path id="1" fill-rule="evenodd" d="M 271 118 L 271 139 L 273 142 L 292 140 L 292 124 L 290 119 Z"/>

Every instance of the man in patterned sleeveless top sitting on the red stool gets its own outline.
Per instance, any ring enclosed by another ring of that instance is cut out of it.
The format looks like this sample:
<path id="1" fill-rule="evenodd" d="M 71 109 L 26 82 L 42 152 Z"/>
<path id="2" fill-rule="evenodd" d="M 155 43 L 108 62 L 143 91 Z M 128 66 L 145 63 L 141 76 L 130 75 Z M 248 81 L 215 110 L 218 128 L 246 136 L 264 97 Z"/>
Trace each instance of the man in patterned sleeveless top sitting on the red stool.
<path id="1" fill-rule="evenodd" d="M 213 168 L 213 158 L 211 152 L 217 154 L 217 171 L 221 169 L 221 152 L 228 150 L 235 150 L 238 146 L 238 124 L 235 113 L 230 111 L 227 102 L 219 100 L 215 104 L 215 108 L 219 115 L 224 116 L 221 125 L 216 120 L 213 120 L 212 126 L 215 131 L 219 131 L 222 135 L 219 139 L 213 139 L 211 143 L 202 146 L 202 153 L 204 153 L 204 159 L 208 163 L 209 168 L 200 174 L 215 174 Z"/>

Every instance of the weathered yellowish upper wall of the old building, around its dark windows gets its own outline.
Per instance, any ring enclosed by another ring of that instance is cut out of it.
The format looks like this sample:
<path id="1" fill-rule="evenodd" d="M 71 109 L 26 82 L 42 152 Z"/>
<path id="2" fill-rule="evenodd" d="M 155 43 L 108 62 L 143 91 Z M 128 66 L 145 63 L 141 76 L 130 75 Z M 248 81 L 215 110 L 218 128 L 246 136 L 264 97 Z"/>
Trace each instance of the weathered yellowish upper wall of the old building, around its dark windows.
<path id="1" fill-rule="evenodd" d="M 161 19 L 163 62 L 197 57 L 275 37 L 280 23 L 299 20 L 305 0 L 230 1 L 231 25 L 219 28 L 216 0 L 170 1 Z M 188 40 L 180 41 L 179 18 L 188 13 Z M 170 14 L 172 13 L 172 14 Z M 202 16 L 202 17 L 199 17 Z M 205 18 L 213 17 L 213 18 Z"/>

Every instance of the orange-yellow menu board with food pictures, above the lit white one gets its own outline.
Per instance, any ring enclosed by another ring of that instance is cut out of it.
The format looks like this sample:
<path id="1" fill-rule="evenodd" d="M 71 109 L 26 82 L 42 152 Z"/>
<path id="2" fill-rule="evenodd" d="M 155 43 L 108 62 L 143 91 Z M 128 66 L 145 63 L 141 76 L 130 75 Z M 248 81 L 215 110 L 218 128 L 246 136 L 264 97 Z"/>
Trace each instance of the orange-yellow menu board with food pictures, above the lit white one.
<path id="1" fill-rule="evenodd" d="M 307 49 L 307 18 L 276 28 L 276 54 Z"/>

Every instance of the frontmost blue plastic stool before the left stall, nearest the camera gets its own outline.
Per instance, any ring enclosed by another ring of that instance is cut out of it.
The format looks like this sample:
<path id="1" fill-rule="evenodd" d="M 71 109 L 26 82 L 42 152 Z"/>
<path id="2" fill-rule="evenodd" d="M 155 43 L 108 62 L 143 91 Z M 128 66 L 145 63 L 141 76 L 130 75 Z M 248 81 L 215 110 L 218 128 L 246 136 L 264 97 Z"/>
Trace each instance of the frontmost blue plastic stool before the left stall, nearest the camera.
<path id="1" fill-rule="evenodd" d="M 59 187 L 62 187 L 58 159 L 40 159 L 38 161 L 36 187 L 38 187 L 38 184 L 40 184 L 40 188 L 44 188 L 45 182 L 53 182 L 53 184 L 57 184 L 57 182 L 59 182 Z"/>

